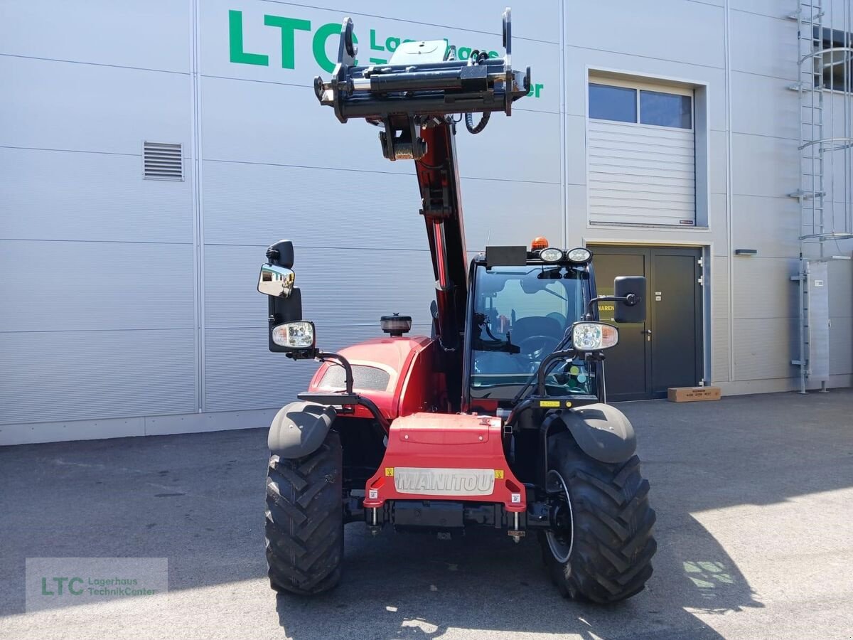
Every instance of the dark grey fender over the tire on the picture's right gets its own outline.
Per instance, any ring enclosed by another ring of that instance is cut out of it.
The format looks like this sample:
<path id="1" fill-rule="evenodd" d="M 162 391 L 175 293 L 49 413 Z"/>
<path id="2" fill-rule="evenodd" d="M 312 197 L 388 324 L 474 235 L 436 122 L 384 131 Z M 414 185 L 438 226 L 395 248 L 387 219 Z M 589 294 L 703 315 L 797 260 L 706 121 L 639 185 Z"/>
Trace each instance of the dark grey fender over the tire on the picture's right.
<path id="1" fill-rule="evenodd" d="M 636 451 L 634 428 L 624 413 L 610 404 L 563 410 L 560 420 L 583 452 L 602 463 L 624 463 Z"/>

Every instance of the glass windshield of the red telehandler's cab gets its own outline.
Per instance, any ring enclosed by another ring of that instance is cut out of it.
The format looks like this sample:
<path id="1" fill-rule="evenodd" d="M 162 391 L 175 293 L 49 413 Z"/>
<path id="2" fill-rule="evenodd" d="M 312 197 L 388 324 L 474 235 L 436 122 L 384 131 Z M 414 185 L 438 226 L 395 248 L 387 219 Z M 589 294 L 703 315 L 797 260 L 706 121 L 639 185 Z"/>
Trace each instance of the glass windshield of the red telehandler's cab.
<path id="1" fill-rule="evenodd" d="M 583 267 L 476 268 L 472 318 L 472 398 L 513 399 L 566 329 L 583 317 Z M 554 364 L 548 395 L 595 395 L 594 369 L 583 360 Z"/>

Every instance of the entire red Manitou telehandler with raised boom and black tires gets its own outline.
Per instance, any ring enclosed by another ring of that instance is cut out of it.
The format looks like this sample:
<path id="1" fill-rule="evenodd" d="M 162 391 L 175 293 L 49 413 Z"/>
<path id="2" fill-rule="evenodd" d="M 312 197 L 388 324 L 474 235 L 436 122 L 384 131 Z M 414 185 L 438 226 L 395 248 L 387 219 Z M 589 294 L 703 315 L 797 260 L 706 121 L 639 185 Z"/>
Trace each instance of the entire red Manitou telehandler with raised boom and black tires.
<path id="1" fill-rule="evenodd" d="M 503 57 L 444 40 L 400 44 L 391 61 L 357 66 L 344 20 L 331 79 L 316 96 L 341 122 L 380 127 L 388 160 L 414 160 L 436 280 L 432 337 L 411 318 L 381 318 L 386 337 L 338 353 L 316 346 L 294 286 L 293 244 L 266 253 L 258 291 L 270 296 L 270 351 L 322 363 L 299 402 L 270 426 L 266 556 L 277 591 L 327 591 L 341 575 L 344 525 L 440 538 L 490 527 L 519 542 L 537 533 L 566 596 L 617 602 L 652 574 L 654 511 L 628 419 L 605 404 L 603 351 L 641 322 L 646 282 L 618 277 L 596 296 L 592 254 L 485 247 L 467 265 L 454 136 L 481 131 L 530 89 Z M 481 113 L 474 125 L 473 113 Z M 346 206 L 345 194 L 339 204 Z M 414 274 L 413 274 L 414 276 Z M 425 274 L 426 276 L 426 274 Z"/>

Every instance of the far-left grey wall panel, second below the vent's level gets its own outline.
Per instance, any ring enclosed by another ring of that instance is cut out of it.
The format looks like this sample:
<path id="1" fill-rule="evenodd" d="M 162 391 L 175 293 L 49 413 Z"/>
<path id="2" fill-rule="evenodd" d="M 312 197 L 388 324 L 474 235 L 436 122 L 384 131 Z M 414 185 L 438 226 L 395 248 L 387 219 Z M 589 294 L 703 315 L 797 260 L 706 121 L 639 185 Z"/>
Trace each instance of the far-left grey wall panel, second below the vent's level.
<path id="1" fill-rule="evenodd" d="M 0 331 L 193 329 L 191 245 L 12 240 L 0 247 Z"/>

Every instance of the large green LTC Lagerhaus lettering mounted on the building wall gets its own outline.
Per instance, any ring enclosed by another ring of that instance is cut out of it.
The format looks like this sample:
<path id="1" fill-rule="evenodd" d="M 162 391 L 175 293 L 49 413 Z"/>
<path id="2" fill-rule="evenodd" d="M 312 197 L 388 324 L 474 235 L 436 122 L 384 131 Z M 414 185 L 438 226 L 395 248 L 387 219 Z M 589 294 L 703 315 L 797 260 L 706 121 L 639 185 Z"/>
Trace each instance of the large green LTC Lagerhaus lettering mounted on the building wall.
<path id="1" fill-rule="evenodd" d="M 290 18 L 284 15 L 264 15 L 264 26 L 280 30 L 281 33 L 281 68 L 295 69 L 297 62 L 297 40 L 299 44 L 307 42 L 307 36 L 310 36 L 311 54 L 318 67 L 327 73 L 334 71 L 334 61 L 329 60 L 326 53 L 326 43 L 328 38 L 338 38 L 340 33 L 339 22 L 327 22 L 320 26 L 316 26 L 311 20 L 303 20 L 301 18 Z M 299 36 L 299 32 L 305 32 L 304 36 Z M 313 32 L 313 34 L 312 34 Z M 243 35 L 243 12 L 234 9 L 228 12 L 228 36 L 229 36 L 229 61 L 235 64 L 258 65 L 260 67 L 270 66 L 270 55 L 268 53 L 258 53 L 255 49 L 249 47 Z M 356 34 L 352 37 L 355 42 L 358 42 Z M 409 38 L 400 38 L 399 36 L 386 36 L 380 34 L 376 29 L 369 30 L 369 38 L 365 43 L 369 43 L 369 48 L 365 51 L 364 44 L 359 52 L 362 56 L 368 55 L 369 64 L 387 64 L 392 53 L 397 50 L 400 43 L 412 42 Z M 448 38 L 444 38 L 444 42 L 450 46 L 453 44 Z M 471 55 L 473 48 L 467 46 L 457 46 L 456 55 L 460 60 L 467 60 Z M 500 54 L 497 51 L 488 52 L 490 58 L 496 58 Z M 300 54 L 307 57 L 305 54 Z M 356 61 L 356 64 L 366 64 L 363 57 Z M 545 85 L 531 84 L 531 89 L 528 96 L 538 98 L 543 94 Z"/>

